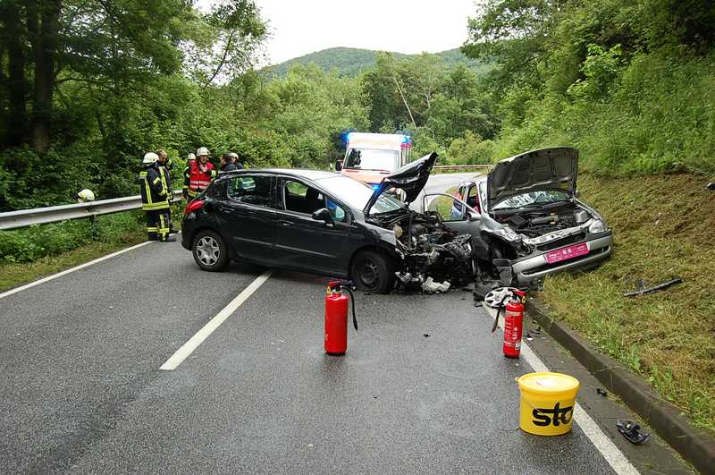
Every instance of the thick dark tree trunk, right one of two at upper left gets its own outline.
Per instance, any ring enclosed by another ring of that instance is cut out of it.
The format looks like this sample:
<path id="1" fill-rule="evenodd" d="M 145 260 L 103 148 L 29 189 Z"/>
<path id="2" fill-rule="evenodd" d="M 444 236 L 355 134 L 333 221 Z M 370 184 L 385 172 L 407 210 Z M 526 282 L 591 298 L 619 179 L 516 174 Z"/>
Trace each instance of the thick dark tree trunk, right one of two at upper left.
<path id="1" fill-rule="evenodd" d="M 34 3 L 34 2 L 30 2 Z M 50 144 L 50 123 L 52 121 L 52 96 L 55 89 L 55 56 L 57 55 L 57 33 L 60 28 L 62 0 L 40 0 L 39 9 L 29 9 L 29 17 L 34 17 L 35 53 L 35 97 L 32 114 L 32 148 L 44 152 Z M 34 10 L 34 12 L 33 12 Z M 33 14 L 34 13 L 34 14 Z M 38 16 L 37 16 L 38 15 Z M 37 21 L 40 20 L 38 24 Z M 30 27 L 30 18 L 28 27 Z"/>

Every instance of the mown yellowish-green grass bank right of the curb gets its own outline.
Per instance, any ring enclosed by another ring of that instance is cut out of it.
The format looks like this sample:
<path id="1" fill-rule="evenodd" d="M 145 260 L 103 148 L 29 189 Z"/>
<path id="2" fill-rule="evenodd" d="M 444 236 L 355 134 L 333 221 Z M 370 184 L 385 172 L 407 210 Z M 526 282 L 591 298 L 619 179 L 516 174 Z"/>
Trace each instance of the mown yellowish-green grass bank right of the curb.
<path id="1" fill-rule="evenodd" d="M 579 178 L 585 202 L 616 234 L 597 270 L 554 276 L 543 300 L 560 318 L 641 374 L 695 426 L 715 432 L 715 192 L 689 174 L 629 179 Z M 659 293 L 623 297 L 638 279 Z"/>

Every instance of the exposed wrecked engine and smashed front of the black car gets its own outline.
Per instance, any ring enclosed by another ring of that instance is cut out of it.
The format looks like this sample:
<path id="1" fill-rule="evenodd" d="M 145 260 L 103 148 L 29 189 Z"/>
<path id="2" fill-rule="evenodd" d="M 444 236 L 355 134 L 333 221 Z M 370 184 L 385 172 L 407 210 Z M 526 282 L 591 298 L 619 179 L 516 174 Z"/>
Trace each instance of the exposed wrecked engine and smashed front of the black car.
<path id="1" fill-rule="evenodd" d="M 436 213 L 409 211 L 375 224 L 395 233 L 404 264 L 396 273 L 402 284 L 440 293 L 474 279 L 472 236 L 445 227 Z"/>

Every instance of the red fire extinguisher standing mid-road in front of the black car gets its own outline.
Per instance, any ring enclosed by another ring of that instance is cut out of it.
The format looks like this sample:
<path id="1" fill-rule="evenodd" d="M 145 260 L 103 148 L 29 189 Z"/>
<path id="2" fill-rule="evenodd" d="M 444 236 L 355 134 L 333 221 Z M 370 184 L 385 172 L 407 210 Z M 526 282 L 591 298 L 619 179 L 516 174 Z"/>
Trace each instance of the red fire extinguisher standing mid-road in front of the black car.
<path id="1" fill-rule="evenodd" d="M 352 324 L 357 330 L 355 317 L 355 294 L 347 281 L 331 281 L 325 295 L 325 352 L 332 355 L 345 354 L 348 350 L 348 296 L 352 299 Z"/>

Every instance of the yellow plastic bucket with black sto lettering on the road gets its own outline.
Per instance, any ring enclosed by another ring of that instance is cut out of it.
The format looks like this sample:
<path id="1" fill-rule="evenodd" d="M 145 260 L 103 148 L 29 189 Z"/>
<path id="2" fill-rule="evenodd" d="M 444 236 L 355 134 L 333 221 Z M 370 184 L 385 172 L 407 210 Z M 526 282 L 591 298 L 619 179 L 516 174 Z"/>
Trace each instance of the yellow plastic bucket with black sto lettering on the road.
<path id="1" fill-rule="evenodd" d="M 517 379 L 521 392 L 519 427 L 537 436 L 571 430 L 580 383 L 560 373 L 529 373 Z"/>

